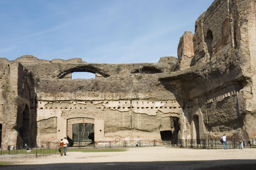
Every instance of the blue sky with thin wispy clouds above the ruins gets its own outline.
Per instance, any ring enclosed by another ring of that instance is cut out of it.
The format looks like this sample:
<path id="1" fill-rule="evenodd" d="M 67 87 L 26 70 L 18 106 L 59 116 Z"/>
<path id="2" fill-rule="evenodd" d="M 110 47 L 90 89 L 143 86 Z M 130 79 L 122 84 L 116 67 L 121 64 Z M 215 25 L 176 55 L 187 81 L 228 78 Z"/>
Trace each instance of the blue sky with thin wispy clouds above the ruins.
<path id="1" fill-rule="evenodd" d="M 158 62 L 213 0 L 0 0 L 0 57 Z"/>

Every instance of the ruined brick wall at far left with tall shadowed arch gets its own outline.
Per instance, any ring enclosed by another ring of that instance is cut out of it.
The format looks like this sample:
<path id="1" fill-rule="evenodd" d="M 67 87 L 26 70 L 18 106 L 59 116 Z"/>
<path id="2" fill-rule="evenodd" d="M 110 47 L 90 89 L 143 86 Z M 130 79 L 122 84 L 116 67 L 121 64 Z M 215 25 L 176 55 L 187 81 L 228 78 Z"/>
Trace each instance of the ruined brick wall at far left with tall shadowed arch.
<path id="1" fill-rule="evenodd" d="M 24 79 L 25 78 L 25 79 Z M 29 111 L 35 104 L 35 93 L 31 83 L 31 75 L 23 70 L 23 66 L 17 62 L 1 59 L 1 112 L 0 121 L 3 124 L 2 146 L 22 143 L 20 128 L 23 126 L 23 111 L 27 106 L 30 119 L 27 126 L 27 142 L 34 141 L 36 136 L 36 126 L 34 113 Z M 33 96 L 34 104 L 31 105 L 30 98 Z M 35 110 L 34 110 L 35 111 Z M 31 126 L 30 126 L 31 124 Z M 34 138 L 34 139 L 32 139 Z"/>

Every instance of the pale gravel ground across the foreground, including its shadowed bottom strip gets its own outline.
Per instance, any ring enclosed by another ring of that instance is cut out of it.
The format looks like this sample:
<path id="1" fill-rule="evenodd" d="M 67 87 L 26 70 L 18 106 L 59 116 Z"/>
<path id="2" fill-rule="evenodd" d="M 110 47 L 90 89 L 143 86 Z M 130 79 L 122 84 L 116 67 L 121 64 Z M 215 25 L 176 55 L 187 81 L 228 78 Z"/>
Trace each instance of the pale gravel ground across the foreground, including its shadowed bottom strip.
<path id="1" fill-rule="evenodd" d="M 256 149 L 129 148 L 125 152 L 67 152 L 66 156 L 3 158 L 8 169 L 256 169 Z"/>

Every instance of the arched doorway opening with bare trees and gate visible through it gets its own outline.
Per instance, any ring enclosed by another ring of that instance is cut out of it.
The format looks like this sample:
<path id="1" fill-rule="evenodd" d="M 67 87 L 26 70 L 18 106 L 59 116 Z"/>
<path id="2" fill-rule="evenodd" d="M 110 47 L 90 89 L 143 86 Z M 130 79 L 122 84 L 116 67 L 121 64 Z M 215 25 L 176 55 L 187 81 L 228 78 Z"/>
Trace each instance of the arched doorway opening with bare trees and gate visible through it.
<path id="1" fill-rule="evenodd" d="M 72 139 L 74 142 L 91 142 L 94 141 L 94 124 L 77 123 L 73 124 Z M 93 133 L 93 139 L 92 139 Z"/>

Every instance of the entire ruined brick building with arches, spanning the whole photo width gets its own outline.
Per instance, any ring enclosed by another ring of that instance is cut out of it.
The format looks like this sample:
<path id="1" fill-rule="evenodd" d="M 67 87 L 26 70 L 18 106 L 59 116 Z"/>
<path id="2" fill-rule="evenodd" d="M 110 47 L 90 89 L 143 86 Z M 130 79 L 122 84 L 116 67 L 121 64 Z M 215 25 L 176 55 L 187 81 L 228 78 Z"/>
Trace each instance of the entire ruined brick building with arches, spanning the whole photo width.
<path id="1" fill-rule="evenodd" d="M 169 131 L 172 139 L 255 137 L 255 4 L 215 0 L 195 22 L 195 34 L 182 36 L 178 59 L 0 59 L 3 143 L 59 141 L 77 122 L 93 123 L 96 141 L 161 139 Z M 96 78 L 72 80 L 75 71 Z"/>

